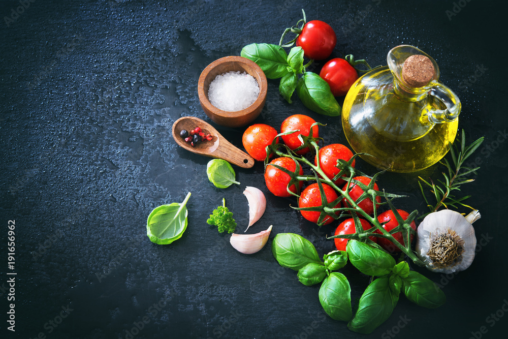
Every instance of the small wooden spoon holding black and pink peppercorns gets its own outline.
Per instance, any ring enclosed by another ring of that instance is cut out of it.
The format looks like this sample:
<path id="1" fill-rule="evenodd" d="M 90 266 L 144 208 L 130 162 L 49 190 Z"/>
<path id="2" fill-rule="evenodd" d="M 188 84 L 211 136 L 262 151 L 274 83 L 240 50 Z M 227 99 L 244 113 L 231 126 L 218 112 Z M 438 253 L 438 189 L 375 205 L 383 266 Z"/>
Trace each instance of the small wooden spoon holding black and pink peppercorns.
<path id="1" fill-rule="evenodd" d="M 211 134 L 212 140 L 202 141 L 193 147 L 180 137 L 181 130 L 192 131 L 196 127 L 200 127 L 205 134 Z M 210 124 L 200 118 L 184 116 L 176 120 L 173 124 L 173 138 L 177 144 L 193 153 L 209 158 L 224 159 L 227 162 L 243 168 L 251 168 L 254 166 L 254 159 L 252 157 L 233 146 L 232 143 L 220 135 Z"/>

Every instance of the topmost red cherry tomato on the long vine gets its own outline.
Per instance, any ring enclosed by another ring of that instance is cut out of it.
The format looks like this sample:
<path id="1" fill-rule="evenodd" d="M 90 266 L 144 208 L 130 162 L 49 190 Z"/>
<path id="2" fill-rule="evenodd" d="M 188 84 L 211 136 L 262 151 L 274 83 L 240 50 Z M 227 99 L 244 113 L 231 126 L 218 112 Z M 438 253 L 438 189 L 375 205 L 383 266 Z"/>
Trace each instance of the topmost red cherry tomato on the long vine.
<path id="1" fill-rule="evenodd" d="M 282 141 L 290 148 L 290 149 L 296 149 L 300 147 L 302 142 L 298 139 L 298 136 L 304 135 L 309 136 L 310 134 L 310 126 L 314 124 L 315 120 L 312 119 L 310 116 L 303 115 L 303 114 L 295 114 L 291 115 L 287 118 L 285 118 L 284 121 L 282 121 L 282 125 L 280 126 L 280 133 L 289 132 L 289 131 L 296 131 L 300 130 L 300 132 L 291 133 L 288 135 L 282 136 Z M 312 137 L 319 138 L 319 131 L 317 129 L 317 125 L 312 128 Z M 305 147 L 304 149 L 301 149 L 297 151 L 296 153 L 298 155 L 304 155 L 310 151 L 309 147 Z"/>

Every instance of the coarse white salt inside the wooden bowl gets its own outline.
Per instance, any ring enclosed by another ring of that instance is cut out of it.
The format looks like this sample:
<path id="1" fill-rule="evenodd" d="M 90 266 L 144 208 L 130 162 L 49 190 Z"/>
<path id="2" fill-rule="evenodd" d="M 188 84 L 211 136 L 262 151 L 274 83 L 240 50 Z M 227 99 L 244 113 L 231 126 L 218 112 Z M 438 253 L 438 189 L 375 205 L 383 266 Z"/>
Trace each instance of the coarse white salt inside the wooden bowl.
<path id="1" fill-rule="evenodd" d="M 236 112 L 252 105 L 259 95 L 256 79 L 245 72 L 228 72 L 217 75 L 208 88 L 210 103 L 228 112 Z"/>

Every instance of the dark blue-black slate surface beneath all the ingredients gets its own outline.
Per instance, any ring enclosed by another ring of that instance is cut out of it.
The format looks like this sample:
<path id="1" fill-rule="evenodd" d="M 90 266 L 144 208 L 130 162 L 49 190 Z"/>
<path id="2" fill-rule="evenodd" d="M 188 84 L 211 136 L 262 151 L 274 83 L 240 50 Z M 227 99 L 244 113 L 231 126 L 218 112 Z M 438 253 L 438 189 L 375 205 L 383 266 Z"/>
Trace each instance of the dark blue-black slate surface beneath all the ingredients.
<path id="1" fill-rule="evenodd" d="M 239 55 L 253 42 L 277 44 L 302 8 L 309 20 L 334 27 L 334 57 L 354 54 L 376 66 L 386 65 L 387 52 L 399 44 L 426 51 L 440 66 L 440 80 L 461 98 L 459 128 L 467 141 L 485 136 L 475 155 L 479 176 L 463 192 L 473 195 L 469 203 L 482 213 L 474 224 L 477 258 L 457 275 L 414 267 L 443 287 L 447 303 L 427 310 L 401 297 L 390 319 L 369 337 L 499 337 L 508 323 L 502 310 L 508 304 L 504 4 L 2 1 L 0 337 L 362 336 L 326 316 L 319 287 L 300 284 L 296 272 L 281 268 L 270 251 L 275 234 L 294 232 L 321 255 L 328 253 L 334 245 L 325 236 L 337 222 L 319 229 L 303 220 L 290 207 L 294 199 L 268 192 L 261 163 L 235 168 L 241 185 L 215 188 L 206 178 L 209 159 L 183 150 L 171 137 L 181 116 L 210 122 L 196 87 L 211 61 Z M 327 124 L 320 129 L 326 143 L 346 142 L 339 118 L 313 113 L 297 99 L 287 104 L 277 88 L 270 80 L 256 122 L 279 128 L 285 117 L 303 113 Z M 244 128 L 216 128 L 242 147 Z M 375 172 L 362 162 L 358 167 Z M 398 207 L 424 212 L 418 176 L 439 178 L 442 170 L 436 165 L 420 173 L 384 174 L 379 186 L 408 196 Z M 266 213 L 249 232 L 273 224 L 266 248 L 250 256 L 206 224 L 225 197 L 243 232 L 246 186 L 267 196 Z M 171 245 L 150 242 L 150 211 L 181 202 L 187 192 L 192 196 L 182 238 Z M 16 223 L 15 333 L 7 330 L 9 220 Z M 349 266 L 343 272 L 358 299 L 368 279 Z"/>

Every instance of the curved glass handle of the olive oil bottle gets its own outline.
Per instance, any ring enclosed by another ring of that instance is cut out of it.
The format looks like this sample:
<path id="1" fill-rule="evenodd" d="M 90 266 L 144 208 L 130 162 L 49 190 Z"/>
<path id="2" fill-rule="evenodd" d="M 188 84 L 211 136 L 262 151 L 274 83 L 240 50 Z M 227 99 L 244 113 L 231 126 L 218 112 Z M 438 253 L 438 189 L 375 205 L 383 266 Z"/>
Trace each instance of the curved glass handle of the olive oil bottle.
<path id="1" fill-rule="evenodd" d="M 446 106 L 444 110 L 430 109 L 427 112 L 427 118 L 430 122 L 434 124 L 443 124 L 444 122 L 451 122 L 458 118 L 461 109 L 460 100 L 450 88 L 439 82 L 435 82 L 429 90 L 429 94 L 439 99 Z"/>

